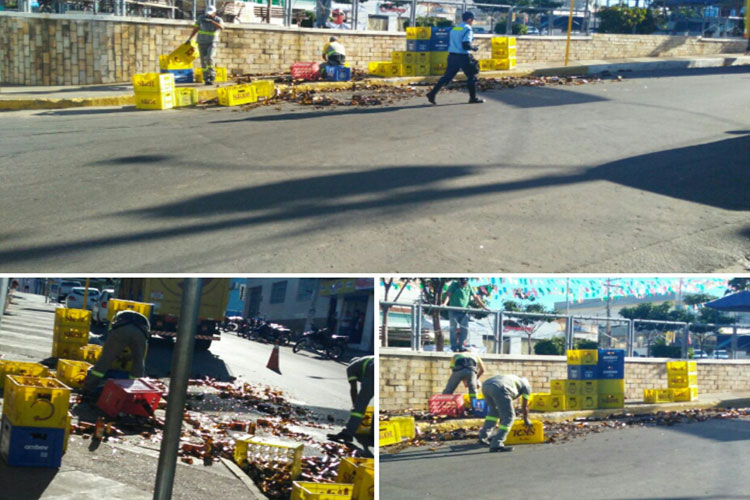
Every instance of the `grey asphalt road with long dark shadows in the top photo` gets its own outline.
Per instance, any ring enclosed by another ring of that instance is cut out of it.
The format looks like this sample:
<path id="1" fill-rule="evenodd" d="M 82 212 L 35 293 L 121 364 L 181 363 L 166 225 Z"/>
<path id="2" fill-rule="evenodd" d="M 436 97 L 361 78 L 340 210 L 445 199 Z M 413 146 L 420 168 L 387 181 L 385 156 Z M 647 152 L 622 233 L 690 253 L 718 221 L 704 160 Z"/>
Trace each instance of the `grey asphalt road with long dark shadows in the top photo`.
<path id="1" fill-rule="evenodd" d="M 737 67 L 481 106 L 3 113 L 0 270 L 742 270 L 748 83 Z"/>

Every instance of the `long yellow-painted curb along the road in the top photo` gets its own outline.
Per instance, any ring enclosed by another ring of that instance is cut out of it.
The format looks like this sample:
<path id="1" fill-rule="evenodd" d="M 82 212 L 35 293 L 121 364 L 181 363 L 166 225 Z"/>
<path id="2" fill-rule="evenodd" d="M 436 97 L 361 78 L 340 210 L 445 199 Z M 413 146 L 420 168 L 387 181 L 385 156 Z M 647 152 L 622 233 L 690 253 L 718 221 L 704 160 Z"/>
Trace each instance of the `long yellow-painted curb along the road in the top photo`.
<path id="1" fill-rule="evenodd" d="M 591 65 L 571 65 L 560 67 L 548 67 L 543 69 L 510 70 L 510 71 L 487 71 L 480 76 L 484 78 L 502 77 L 524 77 L 524 76 L 590 76 L 609 72 L 636 72 L 636 71 L 667 71 L 678 69 L 718 68 L 729 66 L 750 65 L 750 57 L 737 54 L 736 57 L 705 57 L 701 59 L 678 59 L 667 61 L 629 61 L 622 63 L 604 63 Z M 403 87 L 414 84 L 434 84 L 440 76 L 417 76 L 399 78 L 368 78 L 355 82 L 311 82 L 295 85 L 293 88 L 299 92 L 311 90 L 355 90 L 357 87 Z M 461 74 L 455 80 L 462 81 L 466 77 Z M 291 85 L 277 85 L 281 91 L 292 88 Z M 216 99 L 216 89 L 199 89 L 200 100 Z M 67 109 L 82 107 L 107 107 L 107 106 L 132 106 L 135 98 L 132 94 L 71 98 L 71 99 L 2 99 L 0 98 L 0 111 L 21 111 L 35 109 Z"/>

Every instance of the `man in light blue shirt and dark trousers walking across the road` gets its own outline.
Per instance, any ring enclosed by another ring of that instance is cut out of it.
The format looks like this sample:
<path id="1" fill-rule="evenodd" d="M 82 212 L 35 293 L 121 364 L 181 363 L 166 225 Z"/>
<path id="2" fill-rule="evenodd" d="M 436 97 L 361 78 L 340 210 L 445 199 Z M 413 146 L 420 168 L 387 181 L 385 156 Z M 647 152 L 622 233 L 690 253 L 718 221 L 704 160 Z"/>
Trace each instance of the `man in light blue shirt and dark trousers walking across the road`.
<path id="1" fill-rule="evenodd" d="M 474 41 L 474 32 L 471 29 L 471 25 L 474 24 L 474 13 L 464 12 L 461 19 L 464 22 L 451 30 L 448 45 L 448 68 L 432 90 L 427 93 L 427 100 L 432 104 L 437 104 L 435 96 L 441 88 L 453 80 L 459 70 L 466 75 L 466 84 L 469 87 L 469 103 L 484 102 L 484 99 L 477 97 L 477 70 L 469 55 L 469 51 L 479 50 L 479 47 L 471 44 Z"/>

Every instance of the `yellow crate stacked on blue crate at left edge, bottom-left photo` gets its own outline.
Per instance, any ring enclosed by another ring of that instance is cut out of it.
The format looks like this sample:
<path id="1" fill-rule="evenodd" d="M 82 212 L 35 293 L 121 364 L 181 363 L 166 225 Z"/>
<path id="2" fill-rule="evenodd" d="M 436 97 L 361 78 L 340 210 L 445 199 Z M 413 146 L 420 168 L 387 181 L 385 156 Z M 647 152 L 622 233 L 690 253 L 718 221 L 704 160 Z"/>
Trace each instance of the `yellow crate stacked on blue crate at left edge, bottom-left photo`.
<path id="1" fill-rule="evenodd" d="M 70 427 L 70 388 L 54 378 L 7 375 L 0 456 L 14 467 L 60 467 Z"/>

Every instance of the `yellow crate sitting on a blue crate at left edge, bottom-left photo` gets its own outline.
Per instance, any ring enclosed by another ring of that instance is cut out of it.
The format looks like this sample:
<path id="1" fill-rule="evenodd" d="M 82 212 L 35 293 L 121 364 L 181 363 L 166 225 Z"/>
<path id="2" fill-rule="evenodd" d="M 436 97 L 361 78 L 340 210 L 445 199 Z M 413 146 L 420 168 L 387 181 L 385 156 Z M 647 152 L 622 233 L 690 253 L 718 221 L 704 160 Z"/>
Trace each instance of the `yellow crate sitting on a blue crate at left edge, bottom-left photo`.
<path id="1" fill-rule="evenodd" d="M 13 425 L 63 429 L 69 408 L 70 388 L 57 379 L 5 377 L 3 415 Z"/>

